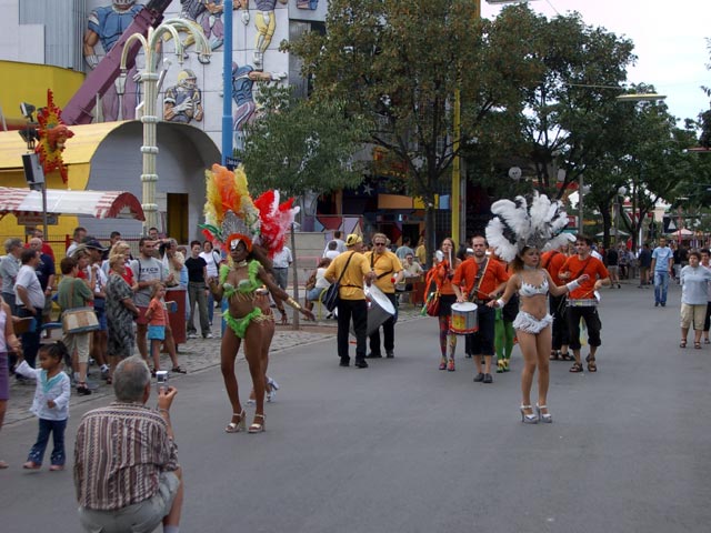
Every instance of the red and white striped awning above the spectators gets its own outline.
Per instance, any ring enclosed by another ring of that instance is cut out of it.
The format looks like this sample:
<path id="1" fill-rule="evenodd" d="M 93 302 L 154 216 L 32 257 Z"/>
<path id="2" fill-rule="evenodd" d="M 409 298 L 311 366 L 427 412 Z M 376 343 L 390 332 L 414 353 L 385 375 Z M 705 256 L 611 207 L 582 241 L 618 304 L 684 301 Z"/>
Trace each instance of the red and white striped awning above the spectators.
<path id="1" fill-rule="evenodd" d="M 0 187 L 0 214 L 41 214 L 42 194 L 39 191 Z M 146 220 L 141 202 L 124 191 L 47 190 L 47 213 L 88 215 L 97 219 Z"/>

